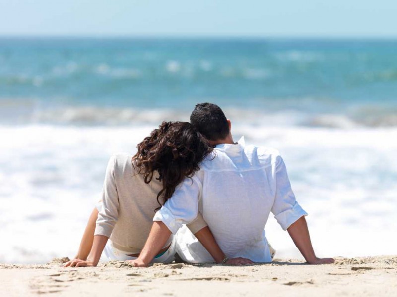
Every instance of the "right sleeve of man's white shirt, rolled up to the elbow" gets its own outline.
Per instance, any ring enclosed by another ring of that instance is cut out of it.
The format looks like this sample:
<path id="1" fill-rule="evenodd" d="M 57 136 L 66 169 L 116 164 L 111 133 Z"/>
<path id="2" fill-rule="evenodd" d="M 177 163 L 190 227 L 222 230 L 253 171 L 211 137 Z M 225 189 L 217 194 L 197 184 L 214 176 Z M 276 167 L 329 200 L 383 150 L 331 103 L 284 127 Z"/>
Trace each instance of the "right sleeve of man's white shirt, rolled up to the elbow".
<path id="1" fill-rule="evenodd" d="M 288 179 L 287 169 L 281 156 L 277 156 L 276 159 L 275 180 L 276 191 L 271 212 L 282 229 L 287 230 L 289 226 L 302 216 L 306 216 L 307 213 L 296 201 Z"/>

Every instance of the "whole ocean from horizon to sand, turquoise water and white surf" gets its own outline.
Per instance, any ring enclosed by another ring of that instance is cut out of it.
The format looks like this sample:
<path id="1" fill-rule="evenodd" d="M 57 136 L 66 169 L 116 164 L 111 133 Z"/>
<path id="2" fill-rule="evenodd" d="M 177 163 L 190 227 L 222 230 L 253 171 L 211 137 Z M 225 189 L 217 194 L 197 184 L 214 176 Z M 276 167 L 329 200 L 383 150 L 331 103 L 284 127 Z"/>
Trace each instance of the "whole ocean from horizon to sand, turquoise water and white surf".
<path id="1" fill-rule="evenodd" d="M 0 262 L 73 257 L 109 157 L 218 104 L 280 150 L 318 256 L 396 254 L 397 40 L 0 38 Z M 276 257 L 299 257 L 270 215 Z"/>

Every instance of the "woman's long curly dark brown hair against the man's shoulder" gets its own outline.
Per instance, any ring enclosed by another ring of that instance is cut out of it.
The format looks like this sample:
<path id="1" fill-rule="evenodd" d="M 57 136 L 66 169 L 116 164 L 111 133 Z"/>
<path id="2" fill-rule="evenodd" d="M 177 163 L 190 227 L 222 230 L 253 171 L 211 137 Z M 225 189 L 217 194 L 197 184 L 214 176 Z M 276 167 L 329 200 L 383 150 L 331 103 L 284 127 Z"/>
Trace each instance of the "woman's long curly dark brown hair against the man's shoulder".
<path id="1" fill-rule="evenodd" d="M 163 122 L 137 148 L 132 158 L 137 173 L 143 174 L 148 184 L 156 171 L 157 179 L 163 184 L 157 194 L 160 206 L 160 197 L 164 203 L 171 198 L 175 188 L 185 177 L 192 177 L 200 169 L 199 163 L 212 151 L 207 140 L 188 122 Z"/>

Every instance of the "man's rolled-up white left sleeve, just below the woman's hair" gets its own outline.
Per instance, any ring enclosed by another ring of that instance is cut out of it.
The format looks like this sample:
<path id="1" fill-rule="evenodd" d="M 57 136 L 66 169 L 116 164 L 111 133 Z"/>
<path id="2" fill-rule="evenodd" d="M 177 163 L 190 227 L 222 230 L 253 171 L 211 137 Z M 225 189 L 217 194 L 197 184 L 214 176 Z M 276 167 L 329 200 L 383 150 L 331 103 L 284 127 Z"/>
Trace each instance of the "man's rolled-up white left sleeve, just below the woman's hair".
<path id="1" fill-rule="evenodd" d="M 183 224 L 193 222 L 198 215 L 202 180 L 197 172 L 192 178 L 185 178 L 174 194 L 154 215 L 153 221 L 162 221 L 173 233 Z M 204 226 L 205 227 L 205 226 Z"/>

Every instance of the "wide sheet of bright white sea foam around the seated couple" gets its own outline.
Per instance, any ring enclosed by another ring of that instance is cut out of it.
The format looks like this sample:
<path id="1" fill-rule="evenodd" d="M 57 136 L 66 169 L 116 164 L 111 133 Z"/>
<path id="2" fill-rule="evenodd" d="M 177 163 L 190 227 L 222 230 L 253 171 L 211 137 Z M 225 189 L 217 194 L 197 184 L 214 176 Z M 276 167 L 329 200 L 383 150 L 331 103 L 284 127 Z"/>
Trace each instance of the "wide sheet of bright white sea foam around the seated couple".
<path id="1" fill-rule="evenodd" d="M 134 153 L 154 127 L 0 127 L 0 262 L 73 256 L 109 156 Z M 397 129 L 232 129 L 280 150 L 319 256 L 395 253 Z M 266 232 L 278 256 L 299 255 L 272 216 Z"/>

